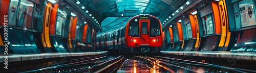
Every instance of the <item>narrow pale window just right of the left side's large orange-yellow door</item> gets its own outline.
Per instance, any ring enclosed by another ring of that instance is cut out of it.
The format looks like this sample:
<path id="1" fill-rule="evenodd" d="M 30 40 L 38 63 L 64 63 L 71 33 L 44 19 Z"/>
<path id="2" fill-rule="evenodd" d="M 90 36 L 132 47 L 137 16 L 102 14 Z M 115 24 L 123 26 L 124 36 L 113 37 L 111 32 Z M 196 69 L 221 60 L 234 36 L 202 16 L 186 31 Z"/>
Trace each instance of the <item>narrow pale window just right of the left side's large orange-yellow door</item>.
<path id="1" fill-rule="evenodd" d="M 61 36 L 62 33 L 62 25 L 63 22 L 65 22 L 64 18 L 57 15 L 57 21 L 56 21 L 56 31 L 55 34 Z"/>

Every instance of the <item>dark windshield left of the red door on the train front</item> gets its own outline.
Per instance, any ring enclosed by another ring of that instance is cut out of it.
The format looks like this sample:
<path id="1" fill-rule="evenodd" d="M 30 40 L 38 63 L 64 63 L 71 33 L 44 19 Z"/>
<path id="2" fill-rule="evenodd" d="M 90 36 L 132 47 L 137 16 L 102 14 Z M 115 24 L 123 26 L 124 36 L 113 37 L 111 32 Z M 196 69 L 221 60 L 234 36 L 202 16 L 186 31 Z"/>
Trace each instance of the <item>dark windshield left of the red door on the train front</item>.
<path id="1" fill-rule="evenodd" d="M 136 22 L 130 22 L 129 36 L 139 37 L 139 24 Z"/>

